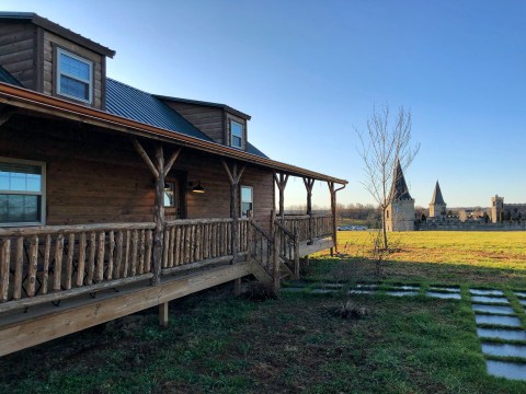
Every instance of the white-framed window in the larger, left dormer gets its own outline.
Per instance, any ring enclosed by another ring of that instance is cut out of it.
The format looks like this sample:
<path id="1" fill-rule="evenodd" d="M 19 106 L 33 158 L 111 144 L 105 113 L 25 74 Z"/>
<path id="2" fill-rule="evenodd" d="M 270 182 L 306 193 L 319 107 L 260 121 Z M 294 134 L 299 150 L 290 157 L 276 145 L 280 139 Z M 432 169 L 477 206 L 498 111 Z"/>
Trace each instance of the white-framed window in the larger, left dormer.
<path id="1" fill-rule="evenodd" d="M 93 63 L 77 55 L 57 49 L 57 93 L 91 103 Z"/>

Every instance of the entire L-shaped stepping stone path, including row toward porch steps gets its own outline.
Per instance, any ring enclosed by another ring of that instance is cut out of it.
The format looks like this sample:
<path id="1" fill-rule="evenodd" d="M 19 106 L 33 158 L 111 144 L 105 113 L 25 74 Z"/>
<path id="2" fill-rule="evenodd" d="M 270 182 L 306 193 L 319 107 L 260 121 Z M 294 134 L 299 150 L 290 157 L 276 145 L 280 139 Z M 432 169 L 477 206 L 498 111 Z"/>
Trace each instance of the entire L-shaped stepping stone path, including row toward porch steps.
<path id="1" fill-rule="evenodd" d="M 379 287 L 378 283 L 358 283 L 348 291 L 348 294 L 374 294 Z M 330 294 L 343 288 L 344 285 L 341 283 L 325 283 L 322 288 L 309 291 L 296 285 L 283 288 L 282 291 Z M 420 291 L 418 285 L 388 285 L 385 293 L 393 297 L 414 297 L 420 294 Z M 459 287 L 431 286 L 425 294 L 438 299 L 461 299 Z M 485 361 L 488 373 L 512 380 L 526 380 L 526 331 L 510 304 L 510 300 L 499 289 L 469 289 L 469 296 L 477 323 L 477 335 L 482 344 L 482 354 L 488 358 Z M 514 296 L 526 308 L 526 291 L 514 291 Z M 514 360 L 493 359 L 495 357 L 510 357 Z"/>

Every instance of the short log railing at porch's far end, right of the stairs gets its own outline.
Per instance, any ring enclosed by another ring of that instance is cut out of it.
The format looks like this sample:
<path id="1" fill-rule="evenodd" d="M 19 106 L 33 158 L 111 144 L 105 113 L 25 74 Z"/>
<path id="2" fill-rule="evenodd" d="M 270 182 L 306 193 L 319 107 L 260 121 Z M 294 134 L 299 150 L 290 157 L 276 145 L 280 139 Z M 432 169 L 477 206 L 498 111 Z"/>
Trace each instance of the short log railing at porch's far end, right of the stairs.
<path id="1" fill-rule="evenodd" d="M 299 242 L 333 235 L 332 215 L 290 215 L 285 216 L 284 227 L 298 235 Z"/>

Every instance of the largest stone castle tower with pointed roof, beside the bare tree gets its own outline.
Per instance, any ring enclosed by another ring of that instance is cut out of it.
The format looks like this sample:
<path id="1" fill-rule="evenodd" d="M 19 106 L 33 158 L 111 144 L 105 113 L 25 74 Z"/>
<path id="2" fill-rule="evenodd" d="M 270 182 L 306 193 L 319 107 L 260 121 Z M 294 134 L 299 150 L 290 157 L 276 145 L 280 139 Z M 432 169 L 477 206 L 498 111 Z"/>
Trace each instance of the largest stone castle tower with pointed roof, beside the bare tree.
<path id="1" fill-rule="evenodd" d="M 387 231 L 414 230 L 414 198 L 409 194 L 409 188 L 403 177 L 400 161 L 397 162 L 392 177 L 389 206 L 386 210 Z"/>

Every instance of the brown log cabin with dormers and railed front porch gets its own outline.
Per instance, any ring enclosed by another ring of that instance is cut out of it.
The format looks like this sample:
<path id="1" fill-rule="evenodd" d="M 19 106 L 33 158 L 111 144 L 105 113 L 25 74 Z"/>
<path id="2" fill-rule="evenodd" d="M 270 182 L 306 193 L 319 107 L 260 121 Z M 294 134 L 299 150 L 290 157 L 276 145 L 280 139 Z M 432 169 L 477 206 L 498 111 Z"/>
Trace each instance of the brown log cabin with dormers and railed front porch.
<path id="1" fill-rule="evenodd" d="M 345 179 L 270 159 L 228 105 L 106 77 L 114 55 L 0 12 L 0 356 L 152 306 L 167 324 L 169 301 L 244 277 L 278 291 L 336 246 Z M 285 215 L 290 176 L 301 216 Z"/>

